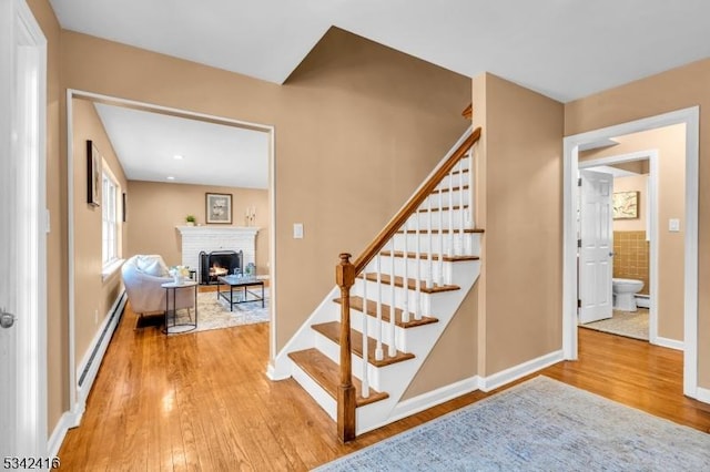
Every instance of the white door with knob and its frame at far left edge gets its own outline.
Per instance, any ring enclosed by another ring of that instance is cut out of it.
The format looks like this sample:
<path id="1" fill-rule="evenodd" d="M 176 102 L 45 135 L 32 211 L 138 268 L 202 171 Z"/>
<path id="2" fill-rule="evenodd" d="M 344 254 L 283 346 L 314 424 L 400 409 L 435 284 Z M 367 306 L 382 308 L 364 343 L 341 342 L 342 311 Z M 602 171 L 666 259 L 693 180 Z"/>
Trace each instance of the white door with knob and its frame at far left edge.
<path id="1" fill-rule="evenodd" d="M 0 0 L 0 459 L 47 455 L 47 45 L 23 0 Z M 42 464 L 39 464 L 42 465 Z"/>

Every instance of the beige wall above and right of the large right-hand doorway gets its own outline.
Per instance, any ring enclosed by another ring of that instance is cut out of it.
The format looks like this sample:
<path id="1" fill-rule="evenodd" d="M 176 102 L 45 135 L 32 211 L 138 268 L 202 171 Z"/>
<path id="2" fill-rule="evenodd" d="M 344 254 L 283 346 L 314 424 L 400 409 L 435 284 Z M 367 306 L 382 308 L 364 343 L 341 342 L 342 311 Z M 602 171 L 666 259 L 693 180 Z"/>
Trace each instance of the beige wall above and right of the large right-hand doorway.
<path id="1" fill-rule="evenodd" d="M 565 134 L 571 135 L 700 105 L 700 123 L 710 121 L 710 59 L 568 103 Z M 710 388 L 710 133 L 700 130 L 698 378 Z"/>

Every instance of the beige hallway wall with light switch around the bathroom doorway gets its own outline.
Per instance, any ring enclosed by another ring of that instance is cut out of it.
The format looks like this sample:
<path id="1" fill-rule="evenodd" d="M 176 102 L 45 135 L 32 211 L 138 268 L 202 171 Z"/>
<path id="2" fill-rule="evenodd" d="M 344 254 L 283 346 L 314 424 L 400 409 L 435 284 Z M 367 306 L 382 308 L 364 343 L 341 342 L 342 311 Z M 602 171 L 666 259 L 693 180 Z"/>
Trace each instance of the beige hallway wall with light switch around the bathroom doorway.
<path id="1" fill-rule="evenodd" d="M 617 136 L 618 145 L 585 153 L 584 158 L 599 158 L 630 154 L 639 151 L 658 151 L 658 336 L 683 340 L 683 279 L 684 279 L 684 215 L 686 215 L 686 125 L 677 124 Z M 630 177 L 629 177 L 630 178 Z M 621 184 L 621 183 L 620 183 Z M 628 189 L 637 189 L 637 184 Z M 623 187 L 626 188 L 626 187 Z M 617 188 L 615 179 L 613 191 Z M 641 218 L 645 218 L 641 198 Z M 681 230 L 668 230 L 668 220 L 679 218 Z M 623 226 L 615 222 L 615 230 L 646 230 L 646 227 Z"/>

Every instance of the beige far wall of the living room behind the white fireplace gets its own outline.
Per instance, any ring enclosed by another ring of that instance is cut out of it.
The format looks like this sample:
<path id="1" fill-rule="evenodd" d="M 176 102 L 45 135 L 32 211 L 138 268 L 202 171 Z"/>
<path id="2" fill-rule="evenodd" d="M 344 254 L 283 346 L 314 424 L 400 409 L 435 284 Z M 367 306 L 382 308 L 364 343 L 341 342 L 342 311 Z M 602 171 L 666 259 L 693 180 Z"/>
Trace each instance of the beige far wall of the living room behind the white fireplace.
<path id="1" fill-rule="evenodd" d="M 182 238 L 175 226 L 194 215 L 205 224 L 205 193 L 232 194 L 232 222 L 244 226 L 246 208 L 255 207 L 256 273 L 268 274 L 268 191 L 129 181 L 128 255 L 160 254 L 169 266 L 182 263 Z"/>

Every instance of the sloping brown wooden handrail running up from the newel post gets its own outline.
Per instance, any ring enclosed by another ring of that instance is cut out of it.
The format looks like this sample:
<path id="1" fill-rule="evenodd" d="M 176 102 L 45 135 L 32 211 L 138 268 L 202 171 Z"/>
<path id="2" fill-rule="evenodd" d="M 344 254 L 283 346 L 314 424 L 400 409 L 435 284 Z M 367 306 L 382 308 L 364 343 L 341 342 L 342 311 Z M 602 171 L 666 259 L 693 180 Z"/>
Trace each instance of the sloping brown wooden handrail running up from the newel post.
<path id="1" fill-rule="evenodd" d="M 404 207 L 387 223 L 387 226 L 379 232 L 377 237 L 365 248 L 357 259 L 353 263 L 355 266 L 355 275 L 363 271 L 367 263 L 385 247 L 385 244 L 399 230 L 407 218 L 422 205 L 426 197 L 436 188 L 439 182 L 448 174 L 456 163 L 470 150 L 470 147 L 480 138 L 480 127 L 474 130 L 458 148 L 449 156 L 449 158 L 438 168 L 438 171 L 429 177 L 429 179 L 419 188 L 419 191 L 409 198 Z"/>

